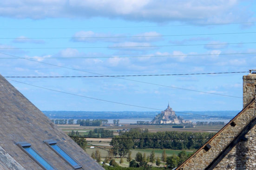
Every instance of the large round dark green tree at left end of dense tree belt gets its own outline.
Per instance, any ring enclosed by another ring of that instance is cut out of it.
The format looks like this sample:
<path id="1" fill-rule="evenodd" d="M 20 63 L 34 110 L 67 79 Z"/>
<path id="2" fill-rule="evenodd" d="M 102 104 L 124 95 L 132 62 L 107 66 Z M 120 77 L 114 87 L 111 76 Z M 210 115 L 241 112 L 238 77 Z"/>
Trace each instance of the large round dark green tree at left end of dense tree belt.
<path id="1" fill-rule="evenodd" d="M 124 157 L 134 145 L 132 139 L 119 139 L 120 137 L 116 136 L 112 138 L 110 145 L 113 146 L 113 154 Z"/>

